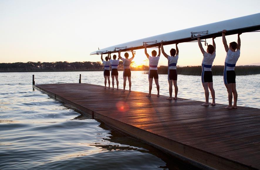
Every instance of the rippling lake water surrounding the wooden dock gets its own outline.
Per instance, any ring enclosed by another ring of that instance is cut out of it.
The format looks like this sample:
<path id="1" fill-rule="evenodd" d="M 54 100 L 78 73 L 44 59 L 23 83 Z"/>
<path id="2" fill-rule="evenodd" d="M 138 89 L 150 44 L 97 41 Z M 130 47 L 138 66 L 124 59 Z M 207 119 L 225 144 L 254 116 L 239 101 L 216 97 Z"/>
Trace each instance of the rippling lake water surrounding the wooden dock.
<path id="1" fill-rule="evenodd" d="M 132 90 L 148 92 L 142 73 L 132 72 Z M 77 83 L 79 74 L 82 83 L 104 81 L 102 72 L 0 73 L 0 169 L 194 169 L 34 90 L 32 74 L 36 84 Z M 238 106 L 260 108 L 259 78 L 237 76 Z M 222 76 L 213 81 L 216 102 L 226 104 Z M 168 95 L 167 75 L 159 83 Z M 178 75 L 178 87 L 179 97 L 205 100 L 199 76 Z"/>

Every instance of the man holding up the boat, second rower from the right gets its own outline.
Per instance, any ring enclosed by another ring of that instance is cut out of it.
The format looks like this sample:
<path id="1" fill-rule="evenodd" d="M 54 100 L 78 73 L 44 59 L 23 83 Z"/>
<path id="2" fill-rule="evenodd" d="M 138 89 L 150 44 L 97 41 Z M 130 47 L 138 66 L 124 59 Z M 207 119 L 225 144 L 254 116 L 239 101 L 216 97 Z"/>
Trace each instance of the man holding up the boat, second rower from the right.
<path id="1" fill-rule="evenodd" d="M 204 51 L 202 44 L 200 42 L 200 34 L 198 36 L 198 44 L 200 47 L 200 51 L 203 54 L 203 60 L 202 60 L 202 72 L 201 72 L 201 81 L 202 81 L 202 86 L 205 91 L 205 98 L 206 102 L 201 104 L 201 106 L 209 106 L 209 89 L 212 97 L 212 103 L 211 105 L 215 106 L 215 90 L 213 88 L 213 76 L 211 72 L 211 67 L 213 64 L 213 61 L 216 57 L 216 44 L 215 44 L 215 37 L 212 38 L 212 43 L 213 45 L 208 45 L 207 46 L 207 52 Z"/>

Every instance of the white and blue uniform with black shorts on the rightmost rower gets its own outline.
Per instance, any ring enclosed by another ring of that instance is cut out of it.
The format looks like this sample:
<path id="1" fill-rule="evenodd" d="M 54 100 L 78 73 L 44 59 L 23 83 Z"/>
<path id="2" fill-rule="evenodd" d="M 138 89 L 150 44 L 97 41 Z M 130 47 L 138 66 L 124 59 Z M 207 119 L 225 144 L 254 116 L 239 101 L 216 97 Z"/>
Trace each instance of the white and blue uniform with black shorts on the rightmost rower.
<path id="1" fill-rule="evenodd" d="M 226 59 L 225 59 L 225 66 L 224 66 L 224 84 L 228 84 L 229 77 L 227 77 L 227 72 L 228 71 L 234 72 L 235 66 L 237 64 L 237 60 L 238 60 L 239 57 L 240 57 L 240 50 L 239 49 L 237 49 L 237 51 L 235 51 L 235 52 L 228 49 L 227 56 L 226 56 Z M 235 79 L 235 77 L 230 77 L 230 79 L 231 78 Z"/>

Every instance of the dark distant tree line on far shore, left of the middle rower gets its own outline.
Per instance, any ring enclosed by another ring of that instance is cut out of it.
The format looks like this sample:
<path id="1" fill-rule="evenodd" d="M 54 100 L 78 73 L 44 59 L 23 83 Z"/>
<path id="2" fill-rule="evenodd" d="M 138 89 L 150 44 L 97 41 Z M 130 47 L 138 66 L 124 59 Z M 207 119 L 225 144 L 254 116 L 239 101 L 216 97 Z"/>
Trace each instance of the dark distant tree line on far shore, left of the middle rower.
<path id="1" fill-rule="evenodd" d="M 118 69 L 123 70 L 123 61 L 119 62 Z M 102 71 L 101 62 L 16 62 L 0 63 L 0 72 L 30 72 L 30 71 Z M 148 66 L 134 67 L 132 70 L 149 70 Z"/>

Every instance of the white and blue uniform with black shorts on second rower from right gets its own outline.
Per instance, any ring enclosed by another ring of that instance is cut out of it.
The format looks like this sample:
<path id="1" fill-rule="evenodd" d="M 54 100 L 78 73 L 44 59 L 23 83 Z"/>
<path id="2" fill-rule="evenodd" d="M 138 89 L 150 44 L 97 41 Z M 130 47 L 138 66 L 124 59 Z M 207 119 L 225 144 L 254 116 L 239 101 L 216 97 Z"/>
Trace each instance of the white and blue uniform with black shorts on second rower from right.
<path id="1" fill-rule="evenodd" d="M 201 72 L 201 81 L 202 83 L 205 82 L 211 82 L 211 81 L 205 81 L 206 79 L 212 79 L 212 77 L 205 77 L 205 72 L 210 73 L 211 72 L 211 67 L 213 64 L 213 61 L 216 57 L 216 52 L 214 51 L 213 54 L 205 52 L 203 55 L 203 60 L 202 60 L 202 72 Z M 212 73 L 208 74 L 208 76 L 212 76 Z"/>

